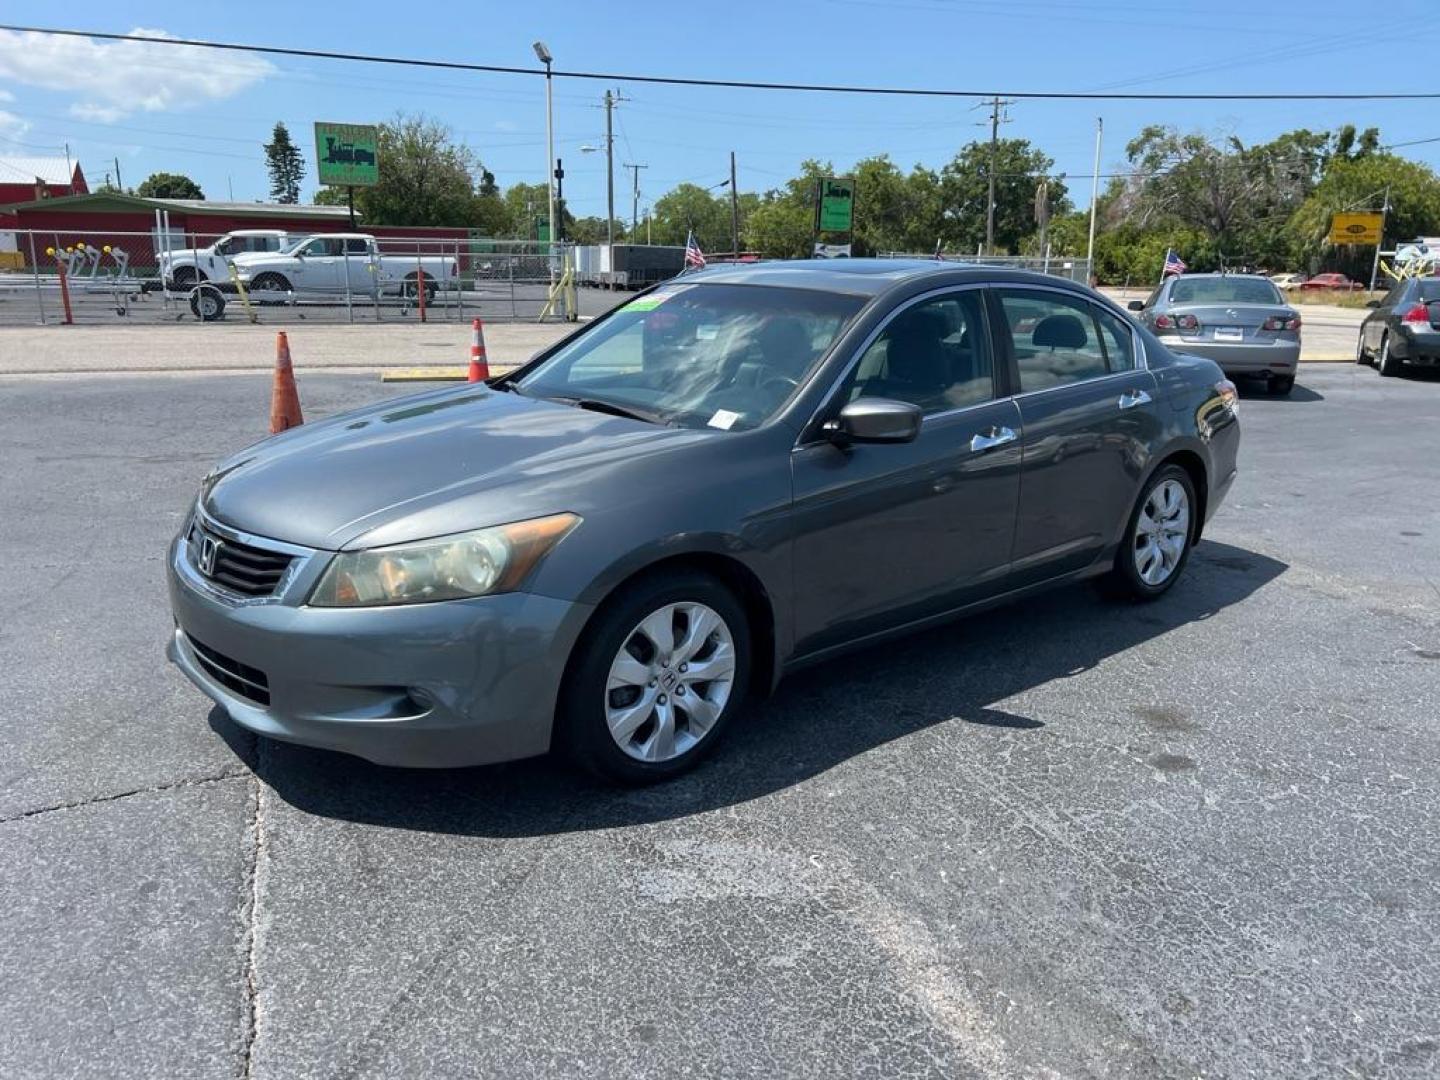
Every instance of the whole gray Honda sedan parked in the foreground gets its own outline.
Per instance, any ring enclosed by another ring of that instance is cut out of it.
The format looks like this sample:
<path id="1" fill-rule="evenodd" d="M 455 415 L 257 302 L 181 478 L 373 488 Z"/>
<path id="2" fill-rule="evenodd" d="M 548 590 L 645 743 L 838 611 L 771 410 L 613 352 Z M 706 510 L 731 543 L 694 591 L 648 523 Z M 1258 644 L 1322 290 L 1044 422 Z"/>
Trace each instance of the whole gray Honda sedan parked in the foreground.
<path id="1" fill-rule="evenodd" d="M 1212 361 L 1066 281 L 707 269 L 222 462 L 168 654 L 264 736 L 654 780 L 796 665 L 1084 577 L 1158 598 L 1238 441 Z"/>

